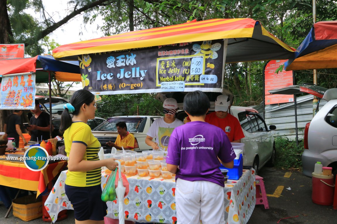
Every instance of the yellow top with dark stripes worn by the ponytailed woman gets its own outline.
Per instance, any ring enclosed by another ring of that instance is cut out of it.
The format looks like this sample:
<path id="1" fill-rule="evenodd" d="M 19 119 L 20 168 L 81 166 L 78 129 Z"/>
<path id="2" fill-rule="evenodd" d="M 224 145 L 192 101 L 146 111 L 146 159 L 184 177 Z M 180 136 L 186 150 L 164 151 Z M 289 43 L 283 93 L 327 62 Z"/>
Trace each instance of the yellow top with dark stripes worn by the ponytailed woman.
<path id="1" fill-rule="evenodd" d="M 98 151 L 101 147 L 98 139 L 93 136 L 89 125 L 83 122 L 73 122 L 65 130 L 64 134 L 65 152 L 69 156 L 72 143 L 82 143 L 86 148 L 83 160 L 99 160 Z M 88 187 L 101 184 L 101 167 L 87 172 L 67 172 L 65 184 L 76 187 Z"/>

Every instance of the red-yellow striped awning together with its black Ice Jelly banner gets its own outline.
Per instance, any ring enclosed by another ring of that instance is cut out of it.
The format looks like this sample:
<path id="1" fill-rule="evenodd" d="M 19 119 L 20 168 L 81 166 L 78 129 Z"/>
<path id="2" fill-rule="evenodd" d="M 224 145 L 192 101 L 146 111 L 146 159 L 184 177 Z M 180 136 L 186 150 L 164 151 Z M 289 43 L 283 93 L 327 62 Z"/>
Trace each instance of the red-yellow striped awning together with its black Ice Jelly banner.
<path id="1" fill-rule="evenodd" d="M 66 44 L 58 59 L 79 60 L 96 95 L 223 92 L 224 64 L 288 59 L 295 49 L 249 18 L 209 19 Z"/>

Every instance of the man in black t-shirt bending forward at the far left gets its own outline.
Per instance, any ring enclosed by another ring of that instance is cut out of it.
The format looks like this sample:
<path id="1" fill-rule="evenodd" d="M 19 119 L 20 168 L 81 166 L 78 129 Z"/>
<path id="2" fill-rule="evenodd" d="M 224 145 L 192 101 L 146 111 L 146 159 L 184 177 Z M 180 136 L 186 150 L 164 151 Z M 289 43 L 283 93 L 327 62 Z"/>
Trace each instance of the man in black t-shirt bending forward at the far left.
<path id="1" fill-rule="evenodd" d="M 8 138 L 14 138 L 16 147 L 19 147 L 19 136 L 22 138 L 24 145 L 27 145 L 27 141 L 21 131 L 21 115 L 23 110 L 14 110 L 5 121 L 3 129 L 8 135 Z"/>

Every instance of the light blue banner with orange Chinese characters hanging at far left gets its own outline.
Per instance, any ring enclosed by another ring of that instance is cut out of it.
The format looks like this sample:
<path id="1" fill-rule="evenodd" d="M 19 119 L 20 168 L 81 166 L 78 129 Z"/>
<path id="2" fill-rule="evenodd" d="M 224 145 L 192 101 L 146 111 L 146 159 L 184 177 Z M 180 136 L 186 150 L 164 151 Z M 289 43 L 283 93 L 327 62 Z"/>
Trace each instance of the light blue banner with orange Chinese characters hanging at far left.
<path id="1" fill-rule="evenodd" d="M 0 109 L 34 109 L 35 74 L 2 76 Z"/>

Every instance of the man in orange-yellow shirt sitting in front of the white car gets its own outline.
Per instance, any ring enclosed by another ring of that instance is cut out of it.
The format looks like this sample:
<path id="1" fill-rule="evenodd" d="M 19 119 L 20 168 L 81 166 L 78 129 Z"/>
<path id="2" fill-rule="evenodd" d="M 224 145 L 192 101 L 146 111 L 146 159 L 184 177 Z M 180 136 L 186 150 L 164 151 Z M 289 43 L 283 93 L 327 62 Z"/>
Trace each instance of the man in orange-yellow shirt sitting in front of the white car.
<path id="1" fill-rule="evenodd" d="M 115 143 L 109 141 L 109 142 L 106 142 L 105 144 L 107 144 L 109 147 L 115 147 L 118 150 L 122 150 L 122 146 L 124 147 L 124 149 L 133 150 L 134 136 L 133 134 L 130 134 L 127 131 L 126 123 L 124 121 L 120 121 L 116 124 L 116 127 L 117 127 L 117 132 L 119 135 L 117 136 Z M 110 152 L 111 152 L 111 149 L 110 149 Z M 110 152 L 109 150 L 106 151 L 106 153 L 110 153 Z"/>

